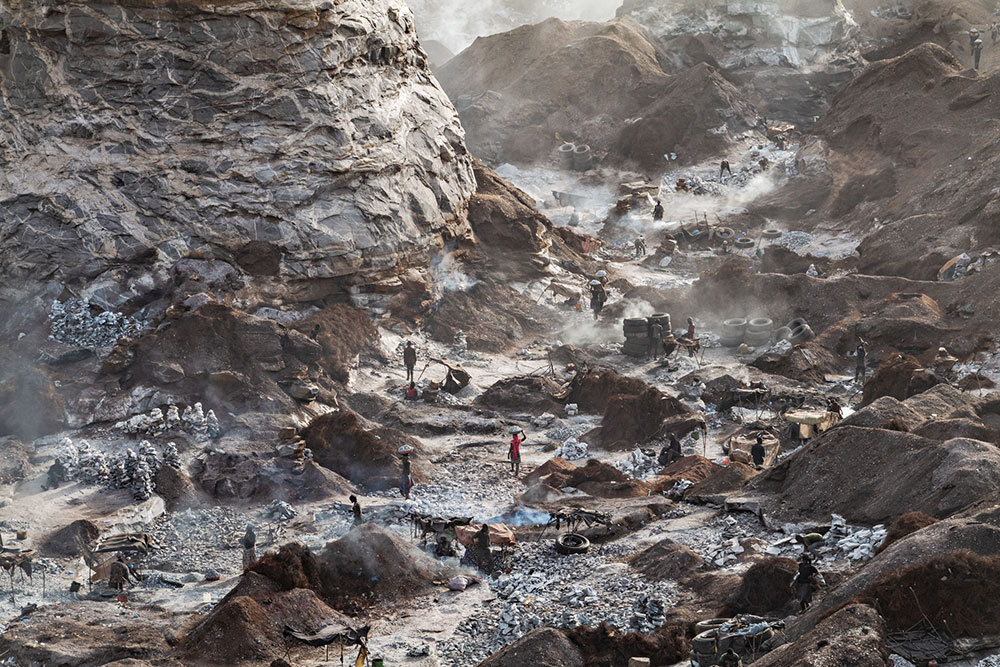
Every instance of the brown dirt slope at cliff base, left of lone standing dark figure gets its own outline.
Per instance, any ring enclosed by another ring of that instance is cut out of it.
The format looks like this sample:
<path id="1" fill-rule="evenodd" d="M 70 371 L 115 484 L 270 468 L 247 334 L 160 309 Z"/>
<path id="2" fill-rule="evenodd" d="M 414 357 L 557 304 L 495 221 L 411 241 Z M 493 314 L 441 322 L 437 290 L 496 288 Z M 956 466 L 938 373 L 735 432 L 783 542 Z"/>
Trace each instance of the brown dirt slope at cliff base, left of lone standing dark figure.
<path id="1" fill-rule="evenodd" d="M 291 328 L 319 343 L 322 348 L 320 367 L 341 383 L 350 379 L 356 357 L 379 340 L 378 329 L 368 313 L 342 303 L 327 306 L 295 322 Z"/>

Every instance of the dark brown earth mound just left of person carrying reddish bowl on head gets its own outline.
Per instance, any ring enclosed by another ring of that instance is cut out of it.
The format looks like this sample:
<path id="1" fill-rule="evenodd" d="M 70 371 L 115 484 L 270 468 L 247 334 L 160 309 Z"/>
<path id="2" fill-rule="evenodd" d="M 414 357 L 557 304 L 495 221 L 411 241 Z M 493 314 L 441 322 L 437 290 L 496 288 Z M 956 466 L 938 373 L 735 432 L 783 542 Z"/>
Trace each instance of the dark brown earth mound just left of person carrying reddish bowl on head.
<path id="1" fill-rule="evenodd" d="M 422 445 L 395 429 L 373 427 L 350 410 L 329 412 L 313 419 L 302 431 L 315 461 L 335 473 L 369 489 L 397 488 L 402 480 L 402 458 L 398 449 L 414 448 L 411 473 L 415 483 L 426 479 L 427 464 Z"/>

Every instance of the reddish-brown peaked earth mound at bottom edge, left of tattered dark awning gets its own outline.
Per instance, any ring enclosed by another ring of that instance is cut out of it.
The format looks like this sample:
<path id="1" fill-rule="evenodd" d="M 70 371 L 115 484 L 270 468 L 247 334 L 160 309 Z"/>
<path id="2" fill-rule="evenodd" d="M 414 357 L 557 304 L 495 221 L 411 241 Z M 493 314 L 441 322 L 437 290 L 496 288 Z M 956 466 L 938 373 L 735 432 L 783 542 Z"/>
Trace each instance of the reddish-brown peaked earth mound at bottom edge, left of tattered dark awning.
<path id="1" fill-rule="evenodd" d="M 184 637 L 181 650 L 207 664 L 269 661 L 285 653 L 286 627 L 316 632 L 348 620 L 311 590 L 284 589 L 250 572 Z"/>

